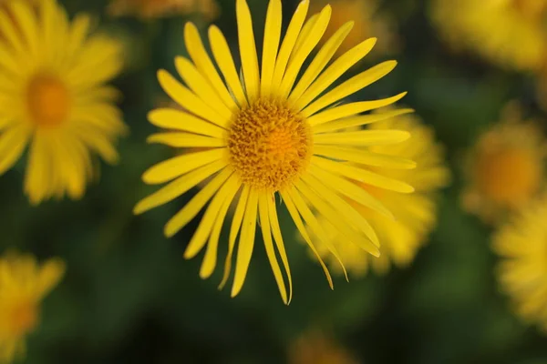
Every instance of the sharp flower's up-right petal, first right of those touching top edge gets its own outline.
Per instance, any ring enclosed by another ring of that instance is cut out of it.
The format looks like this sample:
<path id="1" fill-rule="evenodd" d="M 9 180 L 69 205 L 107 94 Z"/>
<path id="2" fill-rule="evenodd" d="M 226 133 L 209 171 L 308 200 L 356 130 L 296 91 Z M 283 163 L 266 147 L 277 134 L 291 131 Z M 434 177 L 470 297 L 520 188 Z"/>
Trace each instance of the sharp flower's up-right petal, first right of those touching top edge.
<path id="1" fill-rule="evenodd" d="M 279 89 L 279 93 L 282 97 L 289 96 L 289 93 L 294 86 L 296 76 L 298 76 L 300 68 L 304 65 L 305 59 L 310 55 L 312 50 L 314 50 L 315 45 L 319 43 L 319 40 L 325 34 L 331 13 L 331 6 L 326 5 L 317 17 L 317 21 L 311 28 L 310 34 L 304 40 L 304 44 L 296 50 L 294 58 L 289 60 L 289 65 L 285 70 L 285 74 Z"/>

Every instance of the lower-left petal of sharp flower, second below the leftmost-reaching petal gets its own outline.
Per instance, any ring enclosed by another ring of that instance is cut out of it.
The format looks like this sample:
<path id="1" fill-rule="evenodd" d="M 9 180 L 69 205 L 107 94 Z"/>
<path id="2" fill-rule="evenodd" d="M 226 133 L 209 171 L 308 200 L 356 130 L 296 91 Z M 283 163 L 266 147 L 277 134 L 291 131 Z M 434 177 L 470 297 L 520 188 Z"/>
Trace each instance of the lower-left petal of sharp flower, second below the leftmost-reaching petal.
<path id="1" fill-rule="evenodd" d="M 225 200 L 232 201 L 233 196 L 241 186 L 238 182 L 238 177 L 232 175 L 226 183 L 212 197 L 211 204 L 205 210 L 205 214 L 201 217 L 200 225 L 191 237 L 188 247 L 184 251 L 184 258 L 191 259 L 198 255 L 201 249 L 205 246 L 207 238 L 211 235 L 212 226 L 216 217 L 219 215 L 219 210 Z"/>

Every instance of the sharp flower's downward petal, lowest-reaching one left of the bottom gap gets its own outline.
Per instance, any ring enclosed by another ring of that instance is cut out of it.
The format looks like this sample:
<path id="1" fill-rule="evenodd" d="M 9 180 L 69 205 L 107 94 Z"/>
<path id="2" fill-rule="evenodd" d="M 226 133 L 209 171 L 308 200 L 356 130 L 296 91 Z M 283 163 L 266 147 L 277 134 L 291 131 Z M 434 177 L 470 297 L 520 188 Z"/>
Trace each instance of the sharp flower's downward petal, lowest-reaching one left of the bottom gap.
<path id="1" fill-rule="evenodd" d="M 258 192 L 251 190 L 249 201 L 245 208 L 243 217 L 242 236 L 237 249 L 237 258 L 235 261 L 235 273 L 233 276 L 233 285 L 231 297 L 234 298 L 243 288 L 243 283 L 247 276 L 247 270 L 251 263 L 254 248 L 254 234 L 256 232 L 256 215 L 258 207 Z"/>

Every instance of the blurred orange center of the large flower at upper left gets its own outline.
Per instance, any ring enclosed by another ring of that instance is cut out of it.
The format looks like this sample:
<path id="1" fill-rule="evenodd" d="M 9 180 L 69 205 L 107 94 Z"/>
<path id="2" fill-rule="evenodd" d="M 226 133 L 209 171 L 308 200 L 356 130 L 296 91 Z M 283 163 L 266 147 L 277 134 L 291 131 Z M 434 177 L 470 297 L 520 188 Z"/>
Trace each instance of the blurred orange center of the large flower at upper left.
<path id="1" fill-rule="evenodd" d="M 67 118 L 70 97 L 67 87 L 56 76 L 34 76 L 28 83 L 26 97 L 36 126 L 59 126 Z"/>

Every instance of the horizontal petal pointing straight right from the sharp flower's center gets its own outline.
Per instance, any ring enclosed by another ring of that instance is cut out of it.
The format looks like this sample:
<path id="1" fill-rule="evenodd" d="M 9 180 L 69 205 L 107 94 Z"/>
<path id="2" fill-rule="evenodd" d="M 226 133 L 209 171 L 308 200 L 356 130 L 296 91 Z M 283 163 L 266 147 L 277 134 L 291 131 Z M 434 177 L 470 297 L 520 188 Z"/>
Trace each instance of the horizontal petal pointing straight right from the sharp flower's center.
<path id="1" fill-rule="evenodd" d="M 410 133 L 405 130 L 360 130 L 317 134 L 314 143 L 344 146 L 388 146 L 407 140 Z"/>

